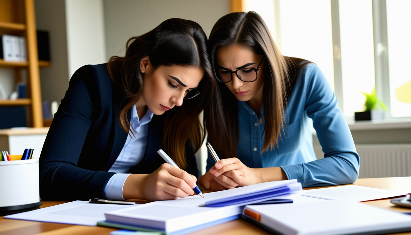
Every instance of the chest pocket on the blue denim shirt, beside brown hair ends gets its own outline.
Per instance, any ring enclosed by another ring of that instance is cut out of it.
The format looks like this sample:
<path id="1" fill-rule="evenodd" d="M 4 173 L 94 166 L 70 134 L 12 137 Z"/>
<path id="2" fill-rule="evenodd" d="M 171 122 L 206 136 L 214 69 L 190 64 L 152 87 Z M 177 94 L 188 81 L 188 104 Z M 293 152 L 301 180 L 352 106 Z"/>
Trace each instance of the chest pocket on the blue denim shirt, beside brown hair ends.
<path id="1" fill-rule="evenodd" d="M 300 120 L 284 126 L 284 132 L 281 130 L 280 137 L 278 138 L 278 146 L 275 146 L 279 155 L 290 154 L 300 147 L 300 135 L 298 135 L 300 130 Z"/>

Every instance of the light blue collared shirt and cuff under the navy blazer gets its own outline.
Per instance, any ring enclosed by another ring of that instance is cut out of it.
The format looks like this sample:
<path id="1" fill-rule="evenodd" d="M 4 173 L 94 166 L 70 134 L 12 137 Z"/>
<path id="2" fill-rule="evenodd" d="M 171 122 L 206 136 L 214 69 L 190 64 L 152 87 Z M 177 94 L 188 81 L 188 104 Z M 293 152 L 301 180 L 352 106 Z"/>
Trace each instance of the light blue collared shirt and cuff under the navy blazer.
<path id="1" fill-rule="evenodd" d="M 147 145 L 148 135 L 148 123 L 153 117 L 153 113 L 150 109 L 139 119 L 137 114 L 136 105 L 132 107 L 130 129 L 133 128 L 134 136 L 127 135 L 127 140 L 124 147 L 121 149 L 120 154 L 111 166 L 109 172 L 116 172 L 118 174 L 113 175 L 104 188 L 104 193 L 109 200 L 124 200 L 123 198 L 123 186 L 127 177 L 131 174 L 126 174 L 133 166 L 140 163 L 143 159 L 145 146 Z"/>

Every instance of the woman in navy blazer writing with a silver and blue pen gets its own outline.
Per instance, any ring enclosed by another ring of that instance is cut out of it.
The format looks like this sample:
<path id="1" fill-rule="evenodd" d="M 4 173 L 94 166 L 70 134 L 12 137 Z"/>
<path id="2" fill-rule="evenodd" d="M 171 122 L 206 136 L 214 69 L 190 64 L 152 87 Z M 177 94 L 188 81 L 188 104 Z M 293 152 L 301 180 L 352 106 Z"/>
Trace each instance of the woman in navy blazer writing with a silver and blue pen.
<path id="1" fill-rule="evenodd" d="M 199 114 L 215 84 L 206 42 L 199 24 L 169 19 L 130 38 L 124 57 L 77 70 L 40 155 L 40 197 L 169 200 L 192 195 L 198 173 L 194 153 L 204 140 Z M 143 119 L 148 126 L 139 138 L 136 129 Z M 132 151 L 125 161 L 119 155 L 127 148 Z M 188 173 L 164 164 L 159 148 Z M 128 164 L 122 170 L 131 175 L 110 170 L 115 163 Z M 115 175 L 125 177 L 113 180 Z M 107 191 L 109 182 L 114 194 Z M 109 193 L 122 198 L 109 198 Z"/>

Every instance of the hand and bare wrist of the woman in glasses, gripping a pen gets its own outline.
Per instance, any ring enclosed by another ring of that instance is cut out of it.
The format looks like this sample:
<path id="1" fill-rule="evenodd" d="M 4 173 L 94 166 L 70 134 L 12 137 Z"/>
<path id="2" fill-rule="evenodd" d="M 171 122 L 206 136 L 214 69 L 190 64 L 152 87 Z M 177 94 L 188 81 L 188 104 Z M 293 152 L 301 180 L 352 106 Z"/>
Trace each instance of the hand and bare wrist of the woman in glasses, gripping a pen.
<path id="1" fill-rule="evenodd" d="M 280 167 L 249 168 L 238 158 L 218 161 L 210 169 L 210 173 L 214 175 L 215 181 L 226 188 L 287 179 L 284 170 Z"/>

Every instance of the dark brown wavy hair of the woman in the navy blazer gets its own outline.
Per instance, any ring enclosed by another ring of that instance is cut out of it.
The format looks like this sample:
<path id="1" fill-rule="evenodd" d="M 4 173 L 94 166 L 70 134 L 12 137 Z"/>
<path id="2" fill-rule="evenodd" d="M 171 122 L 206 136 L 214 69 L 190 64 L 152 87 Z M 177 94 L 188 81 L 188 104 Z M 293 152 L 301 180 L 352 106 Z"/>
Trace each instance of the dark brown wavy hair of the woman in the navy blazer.
<path id="1" fill-rule="evenodd" d="M 165 114 L 163 142 L 164 150 L 180 168 L 187 167 L 185 149 L 193 145 L 198 151 L 204 141 L 205 130 L 200 121 L 200 113 L 212 99 L 215 80 L 207 54 L 207 37 L 201 26 L 184 19 L 168 19 L 155 29 L 127 41 L 124 57 L 112 56 L 107 71 L 115 84 L 121 86 L 126 105 L 119 114 L 123 130 L 130 133 L 127 111 L 142 97 L 143 73 L 140 61 L 149 57 L 154 69 L 160 65 L 182 65 L 199 67 L 205 71 L 198 90 L 200 94 L 185 100 L 183 105 L 174 107 Z M 131 133 L 134 135 L 133 131 Z"/>

